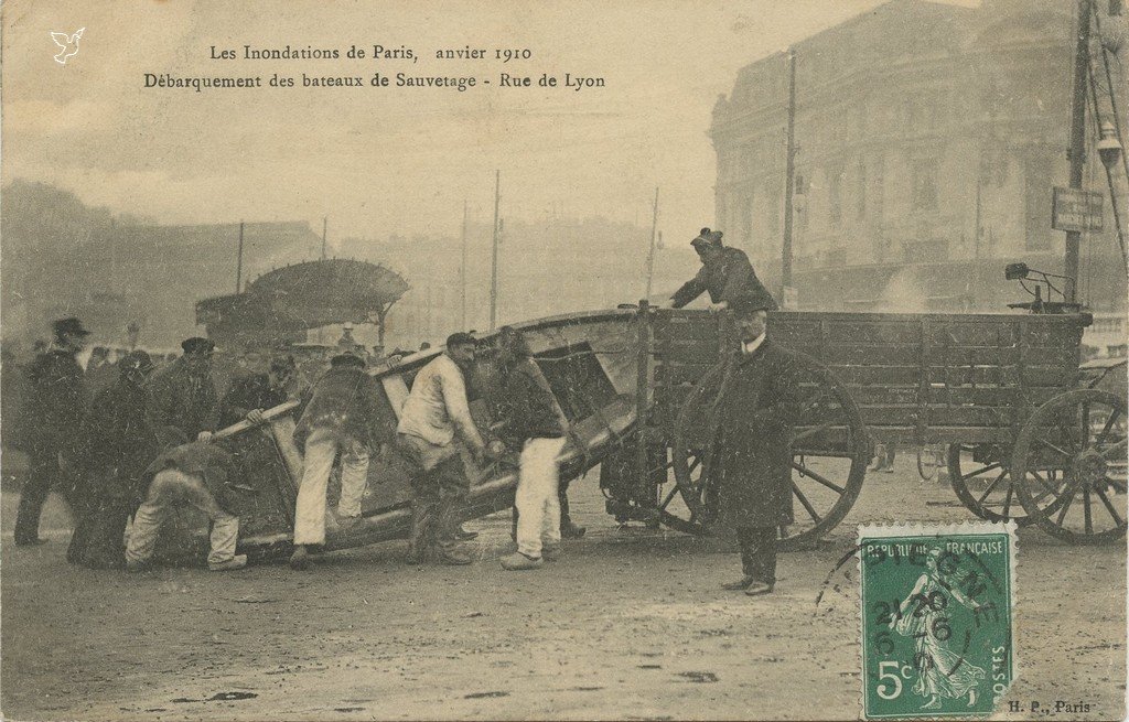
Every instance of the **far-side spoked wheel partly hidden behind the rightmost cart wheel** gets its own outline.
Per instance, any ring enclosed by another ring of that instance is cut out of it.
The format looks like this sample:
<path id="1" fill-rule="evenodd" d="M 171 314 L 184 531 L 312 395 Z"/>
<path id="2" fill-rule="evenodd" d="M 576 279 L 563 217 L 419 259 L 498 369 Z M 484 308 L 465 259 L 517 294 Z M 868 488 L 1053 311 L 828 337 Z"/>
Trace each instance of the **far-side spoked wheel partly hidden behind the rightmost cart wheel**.
<path id="1" fill-rule="evenodd" d="M 1029 469 L 1023 484 L 1012 482 L 1010 459 L 996 444 L 954 443 L 948 447 L 948 478 L 964 507 L 988 521 L 1014 521 L 1025 527 L 1034 519 L 1019 502 L 1018 488 L 1031 490 L 1031 499 L 1041 509 L 1053 510 L 1057 490 L 1062 487 L 1061 469 Z"/>

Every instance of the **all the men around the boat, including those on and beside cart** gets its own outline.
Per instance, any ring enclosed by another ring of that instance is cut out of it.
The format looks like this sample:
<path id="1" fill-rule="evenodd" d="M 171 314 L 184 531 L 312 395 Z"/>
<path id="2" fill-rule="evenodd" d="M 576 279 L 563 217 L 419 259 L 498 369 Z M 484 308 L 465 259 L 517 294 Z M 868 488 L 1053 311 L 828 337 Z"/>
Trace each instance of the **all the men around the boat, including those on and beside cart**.
<path id="1" fill-rule="evenodd" d="M 692 241 L 702 270 L 672 298 L 685 306 L 708 292 L 711 309 L 730 309 L 741 347 L 727 360 L 718 396 L 717 456 L 720 508 L 737 530 L 744 574 L 729 589 L 768 593 L 774 584 L 776 529 L 791 521 L 788 439 L 797 407 L 790 356 L 765 338 L 765 314 L 777 308 L 745 255 L 725 248 L 721 234 L 702 229 Z M 93 567 L 143 570 L 151 563 L 161 526 L 180 505 L 210 521 L 208 566 L 240 569 L 236 553 L 246 482 L 244 460 L 217 430 L 246 420 L 266 421 L 265 410 L 300 398 L 294 441 L 304 457 L 295 510 L 290 566 L 304 570 L 326 539 L 326 495 L 334 466 L 341 492 L 333 518 L 348 527 L 362 516 L 369 457 L 380 428 L 366 358 L 339 347 L 329 368 L 305 389 L 295 388 L 296 364 L 287 355 L 250 353 L 246 372 L 220 397 L 211 373 L 216 346 L 193 337 L 183 354 L 155 370 L 154 359 L 132 351 L 113 364 L 116 377 L 91 394 L 90 370 L 78 362 L 89 332 L 77 318 L 54 324 L 54 338 L 28 371 L 29 391 L 18 446 L 30 472 L 15 529 L 19 546 L 36 545 L 43 502 L 54 485 L 69 502 L 76 530 L 68 560 Z M 519 455 L 515 501 L 516 551 L 506 570 L 537 569 L 561 554 L 563 536 L 581 536 L 571 522 L 558 457 L 571 433 L 569 420 L 533 360 L 523 334 L 504 327 L 495 340 L 497 394 L 491 429 L 470 411 L 479 342 L 467 333 L 417 373 L 399 415 L 395 448 L 412 469 L 409 553 L 413 564 L 435 560 L 470 564 L 461 545 L 471 469 L 507 451 Z M 95 367 L 100 369 L 100 366 Z M 564 513 L 562 514 L 562 502 Z M 132 530 L 125 542 L 129 519 Z"/>

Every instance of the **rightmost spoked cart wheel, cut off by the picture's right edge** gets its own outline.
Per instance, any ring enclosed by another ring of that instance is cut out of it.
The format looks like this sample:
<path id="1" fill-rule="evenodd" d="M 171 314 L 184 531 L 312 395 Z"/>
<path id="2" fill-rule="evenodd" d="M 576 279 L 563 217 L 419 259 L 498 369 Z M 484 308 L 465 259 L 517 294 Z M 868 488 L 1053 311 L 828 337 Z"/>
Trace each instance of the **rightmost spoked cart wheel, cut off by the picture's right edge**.
<path id="1" fill-rule="evenodd" d="M 1126 438 L 1126 400 L 1109 391 L 1067 391 L 1035 410 L 1016 440 L 1012 467 L 1064 469 L 1053 508 L 1041 508 L 1033 487 L 1016 487 L 1040 529 L 1074 544 L 1124 536 Z"/>

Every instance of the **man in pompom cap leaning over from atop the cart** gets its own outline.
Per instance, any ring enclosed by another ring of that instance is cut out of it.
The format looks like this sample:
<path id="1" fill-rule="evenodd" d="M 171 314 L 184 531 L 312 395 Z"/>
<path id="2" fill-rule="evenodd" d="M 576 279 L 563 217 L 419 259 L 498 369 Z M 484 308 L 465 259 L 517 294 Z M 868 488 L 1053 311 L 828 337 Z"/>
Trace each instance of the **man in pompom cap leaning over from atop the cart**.
<path id="1" fill-rule="evenodd" d="M 767 299 L 771 303 L 769 310 L 779 308 L 756 278 L 745 252 L 721 245 L 721 231 L 703 228 L 690 245 L 698 252 L 702 267 L 671 297 L 673 308 L 682 308 L 707 292 L 710 310 L 727 308 L 741 296 Z"/>

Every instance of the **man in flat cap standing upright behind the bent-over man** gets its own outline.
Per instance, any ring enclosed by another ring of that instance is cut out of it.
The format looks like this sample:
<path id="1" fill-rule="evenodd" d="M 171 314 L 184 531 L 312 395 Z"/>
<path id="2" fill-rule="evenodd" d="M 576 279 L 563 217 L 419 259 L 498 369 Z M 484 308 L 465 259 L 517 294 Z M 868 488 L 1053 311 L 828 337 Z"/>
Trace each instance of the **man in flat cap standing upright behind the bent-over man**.
<path id="1" fill-rule="evenodd" d="M 211 375 L 216 344 L 199 336 L 181 343 L 184 354 L 149 380 L 150 423 L 163 448 L 207 441 L 219 422 Z"/>

